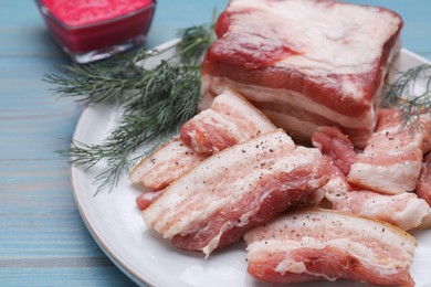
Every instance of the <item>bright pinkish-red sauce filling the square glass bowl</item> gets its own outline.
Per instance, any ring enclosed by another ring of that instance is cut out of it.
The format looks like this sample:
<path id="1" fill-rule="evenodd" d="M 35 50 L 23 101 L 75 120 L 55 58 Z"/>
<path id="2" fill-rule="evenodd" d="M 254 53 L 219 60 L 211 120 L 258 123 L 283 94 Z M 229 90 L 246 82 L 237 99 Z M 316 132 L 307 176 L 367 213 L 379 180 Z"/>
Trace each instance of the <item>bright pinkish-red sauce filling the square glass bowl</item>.
<path id="1" fill-rule="evenodd" d="M 115 53 L 126 42 L 141 44 L 148 32 L 156 0 L 39 2 L 52 35 L 72 56 L 102 50 Z"/>

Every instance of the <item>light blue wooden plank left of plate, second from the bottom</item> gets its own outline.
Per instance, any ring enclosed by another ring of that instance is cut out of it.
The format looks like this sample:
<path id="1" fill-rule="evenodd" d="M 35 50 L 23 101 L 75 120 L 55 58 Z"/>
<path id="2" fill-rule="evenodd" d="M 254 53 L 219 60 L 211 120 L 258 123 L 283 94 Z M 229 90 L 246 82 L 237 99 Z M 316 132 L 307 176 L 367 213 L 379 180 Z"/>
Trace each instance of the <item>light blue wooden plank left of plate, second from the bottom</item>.
<path id="1" fill-rule="evenodd" d="M 11 259 L 103 256 L 81 220 L 64 160 L 0 163 L 0 269 Z"/>

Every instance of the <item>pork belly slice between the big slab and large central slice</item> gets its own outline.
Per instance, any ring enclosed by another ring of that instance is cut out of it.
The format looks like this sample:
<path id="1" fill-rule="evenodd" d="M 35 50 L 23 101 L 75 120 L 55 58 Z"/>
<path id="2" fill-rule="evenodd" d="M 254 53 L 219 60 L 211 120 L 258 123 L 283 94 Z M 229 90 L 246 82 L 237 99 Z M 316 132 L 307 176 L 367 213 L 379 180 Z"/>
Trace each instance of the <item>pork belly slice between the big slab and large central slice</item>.
<path id="1" fill-rule="evenodd" d="M 238 142 L 275 130 L 275 126 L 239 94 L 225 89 L 188 120 L 180 130 L 182 141 L 196 152 L 211 156 Z"/>

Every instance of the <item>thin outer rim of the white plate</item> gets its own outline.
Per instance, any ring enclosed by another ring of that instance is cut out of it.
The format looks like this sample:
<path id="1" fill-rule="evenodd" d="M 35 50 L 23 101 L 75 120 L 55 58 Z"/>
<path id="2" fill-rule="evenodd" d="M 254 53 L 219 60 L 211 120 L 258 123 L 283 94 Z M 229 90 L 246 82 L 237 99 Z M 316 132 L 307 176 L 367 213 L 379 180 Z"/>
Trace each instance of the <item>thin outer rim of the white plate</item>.
<path id="1" fill-rule="evenodd" d="M 174 40 L 170 40 L 168 42 L 165 42 L 160 45 L 157 45 L 156 47 L 154 47 L 153 50 L 165 50 L 165 49 L 169 49 L 169 47 L 172 47 L 175 44 L 177 44 L 179 41 L 179 39 L 174 39 Z M 408 50 L 408 49 L 404 49 L 404 47 L 401 47 L 400 50 L 400 55 L 401 54 L 404 54 L 407 55 L 408 57 L 411 57 L 411 59 L 414 59 L 417 60 L 418 62 L 421 62 L 423 64 L 431 64 L 431 61 L 412 52 L 411 50 Z M 84 110 L 81 113 L 80 117 L 78 117 L 78 120 L 76 121 L 76 125 L 75 125 L 75 129 L 74 129 L 74 132 L 73 132 L 73 136 L 72 136 L 72 139 L 75 139 L 76 136 L 80 134 L 80 130 L 83 128 L 84 126 L 84 119 L 86 118 L 86 115 L 88 113 L 91 113 L 91 106 L 87 106 L 84 108 Z M 98 234 L 96 232 L 96 230 L 92 226 L 92 223 L 91 223 L 91 220 L 88 220 L 88 217 L 86 216 L 85 214 L 85 211 L 82 206 L 82 203 L 80 202 L 80 195 L 78 195 L 78 192 L 76 191 L 76 184 L 74 182 L 74 173 L 76 171 L 76 167 L 74 167 L 73 164 L 70 167 L 70 180 L 71 180 L 71 187 L 72 187 L 72 192 L 73 192 L 73 198 L 75 200 L 75 203 L 76 203 L 76 206 L 77 206 L 77 210 L 80 212 L 80 215 L 81 215 L 81 219 L 83 220 L 86 228 L 88 230 L 90 234 L 92 235 L 93 240 L 97 243 L 97 245 L 99 246 L 99 248 L 104 252 L 104 254 L 111 259 L 111 262 L 114 263 L 114 265 L 120 269 L 128 278 L 130 278 L 134 283 L 136 283 L 137 285 L 139 286 L 157 286 L 155 283 L 151 283 L 148 278 L 145 278 L 143 277 L 141 275 L 139 275 L 138 273 L 136 273 L 135 270 L 133 270 L 133 268 L 130 266 L 128 266 L 127 264 L 125 264 L 122 258 L 115 254 L 115 251 L 111 249 L 105 240 L 103 238 L 103 236 L 101 234 Z M 76 177 L 75 177 L 76 178 Z"/>

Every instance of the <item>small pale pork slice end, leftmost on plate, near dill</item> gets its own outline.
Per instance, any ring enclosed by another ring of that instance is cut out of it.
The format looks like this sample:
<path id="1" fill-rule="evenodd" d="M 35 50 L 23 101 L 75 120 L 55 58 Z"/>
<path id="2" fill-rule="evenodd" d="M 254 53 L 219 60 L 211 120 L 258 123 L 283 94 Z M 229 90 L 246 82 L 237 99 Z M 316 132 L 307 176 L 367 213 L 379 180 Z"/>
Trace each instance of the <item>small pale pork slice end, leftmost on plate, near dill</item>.
<path id="1" fill-rule="evenodd" d="M 180 139 L 174 139 L 143 159 L 130 172 L 129 181 L 151 190 L 166 188 L 206 157 L 197 155 Z"/>

